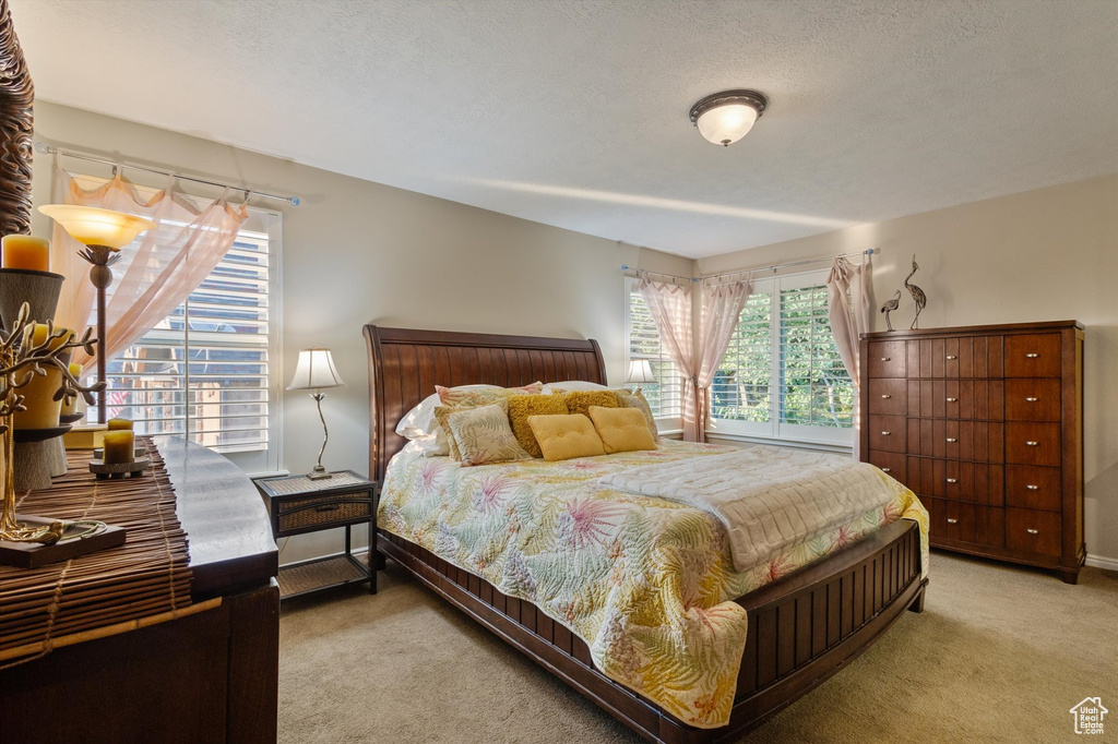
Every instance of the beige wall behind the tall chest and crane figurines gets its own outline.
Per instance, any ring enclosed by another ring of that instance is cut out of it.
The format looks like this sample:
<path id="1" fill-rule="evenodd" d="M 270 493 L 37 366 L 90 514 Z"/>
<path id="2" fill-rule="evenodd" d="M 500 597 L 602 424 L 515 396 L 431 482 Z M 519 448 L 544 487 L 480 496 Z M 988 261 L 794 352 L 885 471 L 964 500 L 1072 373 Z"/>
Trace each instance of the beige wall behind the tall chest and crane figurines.
<path id="1" fill-rule="evenodd" d="M 874 247 L 881 249 L 873 256 L 877 306 L 901 288 L 917 255 L 912 282 L 928 295 L 921 327 L 1087 325 L 1087 550 L 1118 559 L 1118 175 L 718 256 L 698 268 L 708 274 Z M 904 293 L 893 325 L 908 327 L 912 313 Z M 884 331 L 880 313 L 874 323 Z"/>

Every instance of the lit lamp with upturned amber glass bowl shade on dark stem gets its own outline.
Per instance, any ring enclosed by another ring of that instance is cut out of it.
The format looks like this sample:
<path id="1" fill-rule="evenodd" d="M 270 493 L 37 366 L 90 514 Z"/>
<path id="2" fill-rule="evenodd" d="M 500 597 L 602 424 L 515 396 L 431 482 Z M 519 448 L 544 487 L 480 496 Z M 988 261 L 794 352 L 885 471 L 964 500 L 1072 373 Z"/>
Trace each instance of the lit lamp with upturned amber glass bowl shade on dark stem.
<path id="1" fill-rule="evenodd" d="M 151 220 L 98 207 L 77 204 L 45 204 L 39 211 L 54 219 L 85 250 L 78 256 L 92 264 L 89 282 L 97 288 L 97 381 L 105 382 L 105 289 L 113 283 L 108 267 L 121 258 L 121 248 L 136 239 L 144 230 L 155 227 Z M 105 423 L 107 387 L 97 397 L 97 422 Z"/>

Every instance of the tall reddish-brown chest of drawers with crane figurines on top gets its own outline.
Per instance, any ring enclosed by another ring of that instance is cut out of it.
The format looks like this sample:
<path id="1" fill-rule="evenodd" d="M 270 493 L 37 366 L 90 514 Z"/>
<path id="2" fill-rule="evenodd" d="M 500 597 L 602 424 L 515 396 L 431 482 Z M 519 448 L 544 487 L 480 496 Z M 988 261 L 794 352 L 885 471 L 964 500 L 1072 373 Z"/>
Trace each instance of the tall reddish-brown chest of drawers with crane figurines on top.
<path id="1" fill-rule="evenodd" d="M 1083 326 L 863 334 L 862 459 L 911 488 L 931 544 L 1052 569 L 1083 545 Z"/>

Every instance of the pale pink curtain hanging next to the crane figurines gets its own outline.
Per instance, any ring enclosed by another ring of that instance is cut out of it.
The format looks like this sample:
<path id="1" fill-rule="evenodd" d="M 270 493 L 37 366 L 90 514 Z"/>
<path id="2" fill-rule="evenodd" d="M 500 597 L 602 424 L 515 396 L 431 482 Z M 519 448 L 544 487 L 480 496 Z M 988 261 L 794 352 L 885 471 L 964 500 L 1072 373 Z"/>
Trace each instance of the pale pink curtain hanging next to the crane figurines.
<path id="1" fill-rule="evenodd" d="M 839 356 L 854 384 L 854 459 L 862 449 L 861 388 L 859 336 L 870 330 L 870 261 L 854 265 L 845 258 L 835 258 L 827 275 L 827 318 L 835 338 Z"/>

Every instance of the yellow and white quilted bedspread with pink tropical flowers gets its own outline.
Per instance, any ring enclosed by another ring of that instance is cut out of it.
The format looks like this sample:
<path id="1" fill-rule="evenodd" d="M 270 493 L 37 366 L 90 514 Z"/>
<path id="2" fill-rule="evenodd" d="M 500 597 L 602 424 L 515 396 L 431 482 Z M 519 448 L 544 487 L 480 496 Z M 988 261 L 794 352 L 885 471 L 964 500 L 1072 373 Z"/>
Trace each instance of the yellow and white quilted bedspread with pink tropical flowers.
<path id="1" fill-rule="evenodd" d="M 585 640 L 607 677 L 714 728 L 729 722 L 746 642 L 746 611 L 733 598 L 900 517 L 920 524 L 928 564 L 928 514 L 900 484 L 883 508 L 733 572 L 724 528 L 709 513 L 594 483 L 729 451 L 663 441 L 654 451 L 479 467 L 404 451 L 388 466 L 379 526 L 532 602 Z"/>

